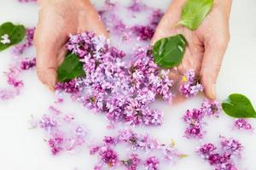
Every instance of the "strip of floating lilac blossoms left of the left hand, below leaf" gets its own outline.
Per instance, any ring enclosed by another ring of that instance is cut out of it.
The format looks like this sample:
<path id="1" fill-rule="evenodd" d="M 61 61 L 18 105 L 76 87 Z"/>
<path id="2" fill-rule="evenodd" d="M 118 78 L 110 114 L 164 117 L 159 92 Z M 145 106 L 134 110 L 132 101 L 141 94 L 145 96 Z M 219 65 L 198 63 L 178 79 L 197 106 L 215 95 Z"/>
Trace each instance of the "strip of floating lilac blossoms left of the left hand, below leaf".
<path id="1" fill-rule="evenodd" d="M 24 58 L 21 54 L 32 46 L 34 28 L 26 29 L 26 40 L 14 47 L 14 64 L 10 66 L 9 71 L 5 72 L 9 88 L 0 89 L 0 99 L 13 99 L 20 94 L 20 89 L 24 83 L 19 80 L 20 73 L 32 69 L 35 66 L 34 58 Z"/>

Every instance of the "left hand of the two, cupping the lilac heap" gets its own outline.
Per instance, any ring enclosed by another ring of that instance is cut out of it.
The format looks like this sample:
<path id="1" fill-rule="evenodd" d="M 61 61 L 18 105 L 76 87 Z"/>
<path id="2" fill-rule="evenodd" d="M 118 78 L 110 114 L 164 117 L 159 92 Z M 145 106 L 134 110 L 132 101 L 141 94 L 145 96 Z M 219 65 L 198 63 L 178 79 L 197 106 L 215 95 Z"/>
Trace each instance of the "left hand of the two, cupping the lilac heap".
<path id="1" fill-rule="evenodd" d="M 41 82 L 54 90 L 56 68 L 66 54 L 68 35 L 94 31 L 108 36 L 89 0 L 41 0 L 35 32 L 37 72 Z"/>

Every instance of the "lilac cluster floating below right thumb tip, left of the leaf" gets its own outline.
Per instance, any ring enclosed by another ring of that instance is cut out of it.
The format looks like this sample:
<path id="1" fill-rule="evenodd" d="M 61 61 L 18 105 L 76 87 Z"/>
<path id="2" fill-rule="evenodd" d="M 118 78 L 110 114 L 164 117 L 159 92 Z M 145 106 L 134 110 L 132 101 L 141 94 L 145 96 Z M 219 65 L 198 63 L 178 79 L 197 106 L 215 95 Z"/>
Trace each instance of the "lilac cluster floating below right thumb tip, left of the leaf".
<path id="1" fill-rule="evenodd" d="M 211 101 L 205 99 L 201 104 L 200 109 L 193 109 L 192 111 L 186 111 L 183 116 L 183 121 L 187 123 L 185 130 L 185 137 L 201 139 L 206 133 L 203 130 L 203 122 L 205 116 L 218 116 L 221 111 L 220 104 L 217 100 Z"/>

